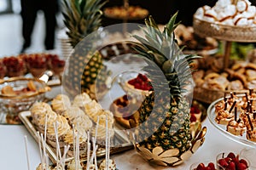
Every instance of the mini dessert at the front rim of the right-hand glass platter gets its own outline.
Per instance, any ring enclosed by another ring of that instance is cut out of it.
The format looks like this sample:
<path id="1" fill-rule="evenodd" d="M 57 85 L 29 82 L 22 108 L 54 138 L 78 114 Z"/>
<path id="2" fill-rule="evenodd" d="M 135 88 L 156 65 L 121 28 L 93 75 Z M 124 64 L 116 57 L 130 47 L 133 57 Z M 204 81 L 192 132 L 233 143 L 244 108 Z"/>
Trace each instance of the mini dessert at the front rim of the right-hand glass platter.
<path id="1" fill-rule="evenodd" d="M 227 131 L 235 135 L 242 136 L 242 134 L 245 133 L 246 130 L 247 127 L 245 126 L 244 122 L 241 121 L 241 119 L 239 119 L 238 121 L 231 120 L 227 125 Z"/>

